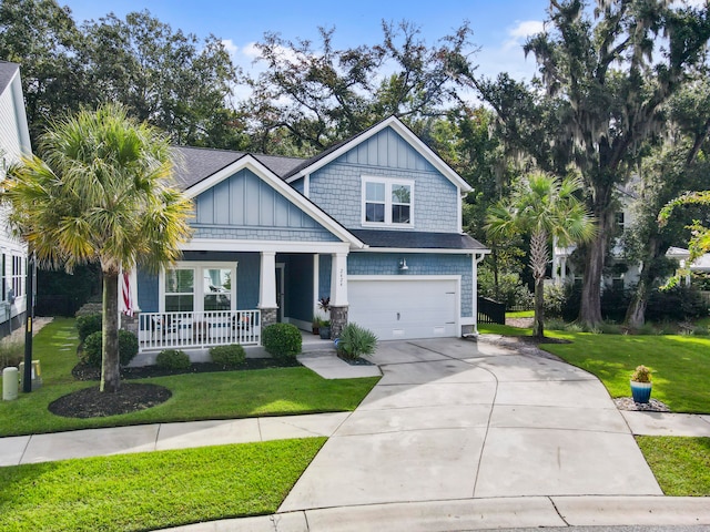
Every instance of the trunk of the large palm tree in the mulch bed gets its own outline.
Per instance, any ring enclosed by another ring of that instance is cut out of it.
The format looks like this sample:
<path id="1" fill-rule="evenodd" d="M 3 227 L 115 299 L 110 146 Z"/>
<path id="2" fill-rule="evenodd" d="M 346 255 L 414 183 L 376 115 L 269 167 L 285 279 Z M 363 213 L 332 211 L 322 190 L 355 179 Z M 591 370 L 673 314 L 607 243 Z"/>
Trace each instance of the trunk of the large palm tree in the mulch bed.
<path id="1" fill-rule="evenodd" d="M 114 272 L 103 272 L 102 336 L 101 391 L 119 391 L 119 274 Z"/>

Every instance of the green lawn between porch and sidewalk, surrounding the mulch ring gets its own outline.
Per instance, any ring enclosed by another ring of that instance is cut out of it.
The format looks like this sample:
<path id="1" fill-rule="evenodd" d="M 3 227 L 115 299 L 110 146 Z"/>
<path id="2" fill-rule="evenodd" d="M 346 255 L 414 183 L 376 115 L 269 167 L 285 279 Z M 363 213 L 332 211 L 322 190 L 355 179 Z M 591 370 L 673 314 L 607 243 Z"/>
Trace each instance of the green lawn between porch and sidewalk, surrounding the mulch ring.
<path id="1" fill-rule="evenodd" d="M 141 379 L 169 388 L 173 396 L 146 410 L 106 418 L 54 416 L 47 407 L 61 396 L 98 382 L 75 381 L 77 334 L 73 319 L 55 319 L 34 337 L 33 358 L 42 365 L 43 386 L 18 400 L 0 402 L 0 436 L 57 432 L 95 427 L 230 419 L 256 416 L 351 411 L 377 378 L 326 380 L 307 368 L 275 368 L 189 374 Z"/>

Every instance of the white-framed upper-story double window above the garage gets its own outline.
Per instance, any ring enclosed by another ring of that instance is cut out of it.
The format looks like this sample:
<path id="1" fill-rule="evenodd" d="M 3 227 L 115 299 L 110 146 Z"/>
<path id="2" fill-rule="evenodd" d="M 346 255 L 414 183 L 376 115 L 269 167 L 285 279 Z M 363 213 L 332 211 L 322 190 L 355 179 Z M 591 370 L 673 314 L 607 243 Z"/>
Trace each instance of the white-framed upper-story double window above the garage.
<path id="1" fill-rule="evenodd" d="M 363 177 L 363 225 L 413 225 L 414 182 Z"/>

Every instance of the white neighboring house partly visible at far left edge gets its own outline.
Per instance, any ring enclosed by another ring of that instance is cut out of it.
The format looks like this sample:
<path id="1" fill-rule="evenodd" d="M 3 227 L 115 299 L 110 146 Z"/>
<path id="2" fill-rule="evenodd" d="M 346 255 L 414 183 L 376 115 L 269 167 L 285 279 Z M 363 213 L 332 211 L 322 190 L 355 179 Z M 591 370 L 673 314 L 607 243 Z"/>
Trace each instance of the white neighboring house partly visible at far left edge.
<path id="1" fill-rule="evenodd" d="M 24 113 L 20 66 L 0 61 L 0 180 L 7 168 L 30 155 L 30 133 Z M 4 219 L 6 212 L 0 212 Z M 18 327 L 26 311 L 27 246 L 0 228 L 0 336 Z"/>

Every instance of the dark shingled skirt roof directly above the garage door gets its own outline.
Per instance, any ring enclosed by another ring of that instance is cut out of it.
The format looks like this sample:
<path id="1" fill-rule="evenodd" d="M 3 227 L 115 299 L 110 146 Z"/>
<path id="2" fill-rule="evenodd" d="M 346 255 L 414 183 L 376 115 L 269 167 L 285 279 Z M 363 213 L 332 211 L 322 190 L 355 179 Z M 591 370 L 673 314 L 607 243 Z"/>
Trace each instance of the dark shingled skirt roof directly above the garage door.
<path id="1" fill-rule="evenodd" d="M 484 252 L 487 247 L 465 233 L 422 233 L 410 231 L 349 229 L 367 244 L 369 250 L 386 249 L 463 249 Z"/>

